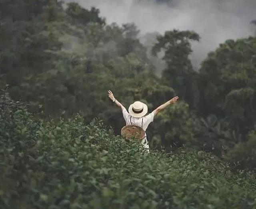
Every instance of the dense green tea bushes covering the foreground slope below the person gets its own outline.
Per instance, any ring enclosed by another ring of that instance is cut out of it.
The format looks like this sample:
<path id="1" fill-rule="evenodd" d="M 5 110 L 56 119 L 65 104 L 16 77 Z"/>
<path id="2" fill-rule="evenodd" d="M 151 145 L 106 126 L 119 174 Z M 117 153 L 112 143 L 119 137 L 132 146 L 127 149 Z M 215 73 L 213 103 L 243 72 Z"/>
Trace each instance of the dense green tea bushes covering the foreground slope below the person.
<path id="1" fill-rule="evenodd" d="M 256 176 L 202 151 L 144 154 L 97 120 L 36 121 L 0 96 L 0 208 L 256 208 Z"/>

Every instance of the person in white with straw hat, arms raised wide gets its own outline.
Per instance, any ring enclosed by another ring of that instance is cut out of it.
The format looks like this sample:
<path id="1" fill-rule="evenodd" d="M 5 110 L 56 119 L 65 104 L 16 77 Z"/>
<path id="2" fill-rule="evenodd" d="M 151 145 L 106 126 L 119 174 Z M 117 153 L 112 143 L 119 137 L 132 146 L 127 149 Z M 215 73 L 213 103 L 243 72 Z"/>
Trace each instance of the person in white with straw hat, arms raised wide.
<path id="1" fill-rule="evenodd" d="M 174 104 L 179 99 L 178 96 L 172 98 L 168 102 L 157 107 L 152 113 L 146 115 L 148 113 L 148 106 L 143 102 L 136 101 L 130 105 L 128 111 L 126 108 L 116 100 L 114 94 L 108 90 L 108 97 L 114 102 L 118 107 L 122 109 L 122 113 L 124 116 L 124 120 L 126 125 L 137 125 L 142 127 L 144 131 L 148 128 L 148 125 L 154 120 L 154 116 L 156 116 L 161 110 L 165 109 L 168 105 Z M 146 116 L 145 116 L 146 115 Z M 142 139 L 142 145 L 145 149 L 147 149 L 149 153 L 149 146 L 147 136 Z"/>

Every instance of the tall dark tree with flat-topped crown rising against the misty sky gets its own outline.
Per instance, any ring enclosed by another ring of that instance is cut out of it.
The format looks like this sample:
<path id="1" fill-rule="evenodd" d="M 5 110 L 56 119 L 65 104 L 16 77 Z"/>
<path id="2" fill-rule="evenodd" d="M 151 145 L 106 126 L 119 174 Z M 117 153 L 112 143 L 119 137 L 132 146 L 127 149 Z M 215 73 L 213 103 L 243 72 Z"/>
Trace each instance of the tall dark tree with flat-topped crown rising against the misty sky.
<path id="1" fill-rule="evenodd" d="M 197 104 L 196 72 L 193 70 L 189 55 L 191 41 L 199 41 L 200 37 L 193 31 L 166 31 L 158 36 L 158 43 L 152 48 L 152 54 L 164 50 L 163 60 L 167 68 L 162 73 L 165 84 L 174 88 L 180 98 L 185 99 L 192 107 Z"/>

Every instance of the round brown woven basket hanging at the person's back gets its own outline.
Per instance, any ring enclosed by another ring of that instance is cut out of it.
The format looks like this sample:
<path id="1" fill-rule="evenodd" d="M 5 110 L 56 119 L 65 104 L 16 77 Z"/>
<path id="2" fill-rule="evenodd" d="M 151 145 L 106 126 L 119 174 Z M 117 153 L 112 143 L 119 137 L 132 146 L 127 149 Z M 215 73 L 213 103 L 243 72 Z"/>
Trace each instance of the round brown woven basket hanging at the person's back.
<path id="1" fill-rule="evenodd" d="M 145 131 L 137 125 L 126 125 L 122 127 L 121 135 L 127 140 L 132 137 L 142 140 L 145 137 Z"/>

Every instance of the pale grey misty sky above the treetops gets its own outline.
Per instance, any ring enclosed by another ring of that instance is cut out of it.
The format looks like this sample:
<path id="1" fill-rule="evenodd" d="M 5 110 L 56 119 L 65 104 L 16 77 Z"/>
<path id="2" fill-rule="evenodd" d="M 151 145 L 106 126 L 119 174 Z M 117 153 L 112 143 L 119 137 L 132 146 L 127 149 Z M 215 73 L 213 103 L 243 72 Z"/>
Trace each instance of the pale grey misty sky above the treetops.
<path id="1" fill-rule="evenodd" d="M 66 0 L 70 1 L 70 0 Z M 175 6 L 150 0 L 76 0 L 85 8 L 96 6 L 107 23 L 135 22 L 146 32 L 194 30 L 200 43 L 192 44 L 192 62 L 199 66 L 210 50 L 227 39 L 254 33 L 256 0 L 174 0 Z"/>

